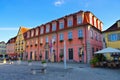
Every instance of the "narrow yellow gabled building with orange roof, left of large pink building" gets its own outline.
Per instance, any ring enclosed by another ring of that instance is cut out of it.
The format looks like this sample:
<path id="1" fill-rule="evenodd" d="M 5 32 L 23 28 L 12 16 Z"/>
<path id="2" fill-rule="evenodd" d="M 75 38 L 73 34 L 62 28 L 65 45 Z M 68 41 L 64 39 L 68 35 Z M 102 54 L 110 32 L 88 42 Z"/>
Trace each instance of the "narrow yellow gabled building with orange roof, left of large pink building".
<path id="1" fill-rule="evenodd" d="M 28 28 L 20 27 L 17 34 L 17 38 L 15 42 L 15 52 L 18 54 L 20 58 L 23 57 L 23 54 L 25 52 L 25 40 L 23 34 L 28 30 L 29 30 Z"/>

